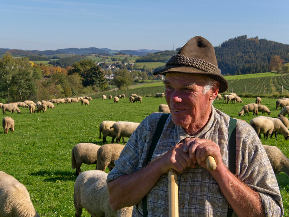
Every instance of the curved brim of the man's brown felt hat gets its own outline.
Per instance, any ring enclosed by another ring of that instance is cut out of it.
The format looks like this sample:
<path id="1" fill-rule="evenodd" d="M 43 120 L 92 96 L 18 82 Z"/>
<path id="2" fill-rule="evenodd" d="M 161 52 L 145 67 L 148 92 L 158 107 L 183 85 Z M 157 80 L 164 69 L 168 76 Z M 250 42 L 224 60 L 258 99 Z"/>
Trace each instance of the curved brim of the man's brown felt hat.
<path id="1" fill-rule="evenodd" d="M 228 82 L 223 76 L 219 74 L 215 74 L 215 73 L 204 72 L 203 70 L 190 67 L 190 66 L 169 65 L 159 71 L 154 72 L 153 74 L 165 75 L 170 72 L 181 72 L 181 73 L 205 75 L 219 82 L 219 93 L 224 93 L 228 90 Z"/>

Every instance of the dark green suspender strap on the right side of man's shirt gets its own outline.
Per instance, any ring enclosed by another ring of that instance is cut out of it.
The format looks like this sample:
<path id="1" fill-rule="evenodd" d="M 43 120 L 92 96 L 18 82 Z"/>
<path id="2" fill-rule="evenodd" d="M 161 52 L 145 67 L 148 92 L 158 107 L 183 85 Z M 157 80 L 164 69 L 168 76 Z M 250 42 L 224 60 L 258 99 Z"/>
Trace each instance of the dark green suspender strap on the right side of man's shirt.
<path id="1" fill-rule="evenodd" d="M 231 173 L 236 174 L 236 124 L 237 120 L 230 118 L 229 121 L 229 170 Z M 233 214 L 233 209 L 229 205 L 227 217 L 231 217 Z"/>

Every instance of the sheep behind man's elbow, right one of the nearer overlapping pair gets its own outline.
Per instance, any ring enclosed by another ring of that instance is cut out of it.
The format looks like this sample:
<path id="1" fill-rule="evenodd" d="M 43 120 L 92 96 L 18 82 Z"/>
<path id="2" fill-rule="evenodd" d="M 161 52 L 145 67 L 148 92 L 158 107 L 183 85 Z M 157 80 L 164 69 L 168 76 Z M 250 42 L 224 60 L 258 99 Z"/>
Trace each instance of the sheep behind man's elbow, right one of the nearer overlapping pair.
<path id="1" fill-rule="evenodd" d="M 97 167 L 96 169 L 105 171 L 106 167 L 109 171 L 115 166 L 115 160 L 119 159 L 119 155 L 122 152 L 125 145 L 121 144 L 106 144 L 97 150 Z"/>

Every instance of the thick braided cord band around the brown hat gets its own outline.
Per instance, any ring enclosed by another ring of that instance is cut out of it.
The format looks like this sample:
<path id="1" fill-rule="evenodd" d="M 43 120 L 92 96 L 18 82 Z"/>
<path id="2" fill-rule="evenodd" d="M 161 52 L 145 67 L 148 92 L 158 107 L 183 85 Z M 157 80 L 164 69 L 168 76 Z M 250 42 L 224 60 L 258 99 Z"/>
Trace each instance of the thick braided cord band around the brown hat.
<path id="1" fill-rule="evenodd" d="M 190 66 L 190 67 L 200 69 L 204 72 L 213 73 L 213 74 L 221 74 L 218 67 L 216 67 L 214 64 L 211 64 L 205 60 L 187 57 L 187 56 L 184 56 L 182 54 L 175 54 L 174 56 L 172 56 L 166 62 L 166 66 L 168 66 L 168 65 Z"/>

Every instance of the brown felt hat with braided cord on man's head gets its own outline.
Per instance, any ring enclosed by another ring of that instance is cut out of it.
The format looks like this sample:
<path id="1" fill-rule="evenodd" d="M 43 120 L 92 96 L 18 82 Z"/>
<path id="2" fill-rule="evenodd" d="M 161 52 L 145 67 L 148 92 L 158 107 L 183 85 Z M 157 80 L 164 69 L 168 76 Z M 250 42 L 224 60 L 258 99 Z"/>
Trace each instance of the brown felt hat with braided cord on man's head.
<path id="1" fill-rule="evenodd" d="M 191 38 L 166 62 L 166 66 L 154 72 L 154 75 L 170 72 L 205 75 L 219 82 L 219 93 L 228 89 L 228 82 L 218 69 L 213 45 L 201 36 Z"/>

